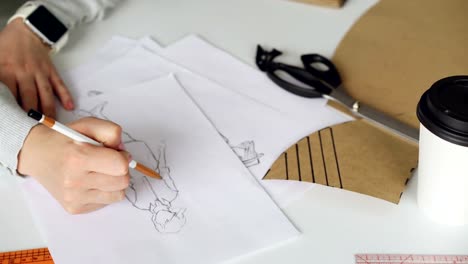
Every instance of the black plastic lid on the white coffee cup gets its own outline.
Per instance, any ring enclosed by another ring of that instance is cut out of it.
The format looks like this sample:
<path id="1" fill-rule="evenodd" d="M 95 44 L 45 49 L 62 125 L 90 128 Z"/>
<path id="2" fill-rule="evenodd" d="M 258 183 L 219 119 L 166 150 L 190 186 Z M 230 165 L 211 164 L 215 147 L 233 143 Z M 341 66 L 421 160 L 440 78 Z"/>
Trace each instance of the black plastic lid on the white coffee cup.
<path id="1" fill-rule="evenodd" d="M 447 77 L 434 83 L 421 96 L 417 115 L 436 136 L 468 146 L 468 76 Z"/>

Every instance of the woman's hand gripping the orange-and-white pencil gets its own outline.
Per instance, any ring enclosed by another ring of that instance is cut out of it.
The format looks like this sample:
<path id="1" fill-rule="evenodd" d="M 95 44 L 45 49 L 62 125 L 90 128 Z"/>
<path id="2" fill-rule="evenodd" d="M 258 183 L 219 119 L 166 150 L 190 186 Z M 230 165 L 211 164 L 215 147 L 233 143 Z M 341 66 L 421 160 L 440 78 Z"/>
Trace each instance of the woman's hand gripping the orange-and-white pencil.
<path id="1" fill-rule="evenodd" d="M 78 143 L 35 126 L 19 154 L 18 172 L 30 175 L 71 214 L 87 213 L 125 198 L 129 155 L 121 151 L 121 128 L 97 118 L 69 125 L 106 147 Z"/>

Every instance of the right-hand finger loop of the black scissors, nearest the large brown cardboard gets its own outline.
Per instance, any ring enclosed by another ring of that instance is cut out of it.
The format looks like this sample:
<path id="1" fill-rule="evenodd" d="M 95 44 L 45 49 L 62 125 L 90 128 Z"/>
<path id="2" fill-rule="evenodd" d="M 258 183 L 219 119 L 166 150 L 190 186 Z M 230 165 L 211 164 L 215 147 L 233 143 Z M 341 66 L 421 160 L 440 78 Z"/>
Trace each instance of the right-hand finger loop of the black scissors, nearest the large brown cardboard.
<path id="1" fill-rule="evenodd" d="M 304 69 L 315 75 L 318 79 L 327 82 L 333 87 L 341 84 L 341 76 L 333 62 L 319 54 L 305 54 L 301 56 Z"/>

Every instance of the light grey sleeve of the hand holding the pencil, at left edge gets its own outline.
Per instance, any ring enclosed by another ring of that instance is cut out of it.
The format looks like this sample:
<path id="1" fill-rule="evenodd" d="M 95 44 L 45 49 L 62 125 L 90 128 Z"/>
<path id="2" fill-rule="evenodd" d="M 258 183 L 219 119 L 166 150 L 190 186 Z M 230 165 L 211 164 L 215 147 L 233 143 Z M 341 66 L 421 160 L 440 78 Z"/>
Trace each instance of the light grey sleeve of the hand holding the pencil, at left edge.
<path id="1" fill-rule="evenodd" d="M 18 154 L 37 121 L 28 117 L 10 90 L 0 83 L 0 165 L 16 174 Z"/>

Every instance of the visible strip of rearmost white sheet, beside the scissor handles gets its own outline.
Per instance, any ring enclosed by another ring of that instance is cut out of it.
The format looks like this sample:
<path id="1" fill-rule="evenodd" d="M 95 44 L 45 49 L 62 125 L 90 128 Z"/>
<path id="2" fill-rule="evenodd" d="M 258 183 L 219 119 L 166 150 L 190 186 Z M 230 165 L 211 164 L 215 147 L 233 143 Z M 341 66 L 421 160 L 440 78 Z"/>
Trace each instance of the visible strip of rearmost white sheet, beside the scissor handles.
<path id="1" fill-rule="evenodd" d="M 304 98 L 279 88 L 260 70 L 196 35 L 189 35 L 168 46 L 164 55 L 197 74 L 283 113 L 312 119 L 320 115 L 317 110 L 326 103 L 323 98 Z"/>

